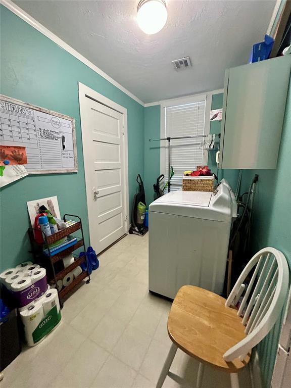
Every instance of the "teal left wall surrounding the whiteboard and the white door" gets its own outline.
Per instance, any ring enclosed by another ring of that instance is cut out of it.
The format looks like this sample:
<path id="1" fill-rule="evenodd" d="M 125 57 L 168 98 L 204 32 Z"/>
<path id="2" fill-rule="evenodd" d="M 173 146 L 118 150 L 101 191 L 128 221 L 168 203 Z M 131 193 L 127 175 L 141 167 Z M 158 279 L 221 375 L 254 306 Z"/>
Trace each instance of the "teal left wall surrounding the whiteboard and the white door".
<path id="1" fill-rule="evenodd" d="M 75 118 L 78 173 L 31 175 L 1 192 L 1 265 L 30 258 L 26 202 L 58 196 L 61 214 L 79 214 L 89 241 L 78 81 L 127 108 L 129 203 L 144 170 L 144 108 L 5 7 L 1 17 L 1 93 Z"/>

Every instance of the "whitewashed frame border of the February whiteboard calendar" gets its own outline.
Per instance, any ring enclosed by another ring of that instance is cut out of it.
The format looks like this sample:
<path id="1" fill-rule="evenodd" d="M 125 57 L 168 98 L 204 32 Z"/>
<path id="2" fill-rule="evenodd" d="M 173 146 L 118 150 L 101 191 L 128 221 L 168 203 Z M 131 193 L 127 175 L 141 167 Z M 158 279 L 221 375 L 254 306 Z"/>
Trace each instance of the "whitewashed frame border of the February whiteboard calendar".
<path id="1" fill-rule="evenodd" d="M 64 115 L 62 113 L 52 111 L 49 109 L 45 109 L 42 107 L 39 107 L 37 105 L 25 103 L 21 100 L 14 99 L 12 97 L 9 97 L 5 94 L 0 94 L 0 100 L 7 102 L 9 104 L 16 104 L 19 105 L 23 108 L 26 108 L 28 110 L 36 111 L 36 112 L 41 112 L 45 113 L 48 115 L 52 115 L 57 118 L 62 118 L 65 120 L 68 120 L 71 122 L 72 125 L 72 140 L 73 140 L 73 153 L 74 153 L 74 167 L 68 167 L 68 168 L 61 168 L 61 169 L 50 169 L 50 168 L 45 168 L 45 169 L 29 169 L 28 172 L 29 174 L 59 174 L 59 173 L 73 173 L 73 172 L 78 172 L 78 159 L 77 159 L 77 143 L 76 143 L 76 129 L 75 129 L 75 119 L 73 117 Z M 5 140 L 4 140 L 5 142 Z M 23 144 L 24 145 L 24 144 Z M 24 165 L 25 167 L 25 165 Z"/>

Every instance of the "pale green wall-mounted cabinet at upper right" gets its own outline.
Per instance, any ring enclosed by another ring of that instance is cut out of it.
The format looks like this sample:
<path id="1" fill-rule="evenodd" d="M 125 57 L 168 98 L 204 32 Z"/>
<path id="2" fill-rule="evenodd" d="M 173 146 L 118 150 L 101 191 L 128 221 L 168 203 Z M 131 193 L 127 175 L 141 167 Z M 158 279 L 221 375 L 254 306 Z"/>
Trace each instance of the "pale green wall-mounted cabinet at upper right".
<path id="1" fill-rule="evenodd" d="M 226 71 L 220 167 L 276 168 L 290 68 L 286 56 Z"/>

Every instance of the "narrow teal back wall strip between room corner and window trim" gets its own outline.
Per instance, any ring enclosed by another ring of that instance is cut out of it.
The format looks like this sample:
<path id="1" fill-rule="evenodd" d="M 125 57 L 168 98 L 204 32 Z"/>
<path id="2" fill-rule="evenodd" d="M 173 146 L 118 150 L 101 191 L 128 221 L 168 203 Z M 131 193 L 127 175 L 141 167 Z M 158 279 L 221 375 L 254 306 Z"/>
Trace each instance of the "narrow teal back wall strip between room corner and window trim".
<path id="1" fill-rule="evenodd" d="M 144 189 L 147 205 L 154 201 L 153 185 L 160 175 L 160 138 L 161 106 L 144 108 Z"/>

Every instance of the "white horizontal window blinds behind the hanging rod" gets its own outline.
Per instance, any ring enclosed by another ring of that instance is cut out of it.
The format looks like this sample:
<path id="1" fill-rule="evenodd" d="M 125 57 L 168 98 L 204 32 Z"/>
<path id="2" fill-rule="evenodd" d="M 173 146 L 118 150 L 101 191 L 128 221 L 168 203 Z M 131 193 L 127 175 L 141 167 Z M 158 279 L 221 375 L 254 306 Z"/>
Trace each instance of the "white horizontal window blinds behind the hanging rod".
<path id="1" fill-rule="evenodd" d="M 166 137 L 204 134 L 205 101 L 165 108 Z M 171 140 L 170 165 L 175 175 L 171 179 L 171 191 L 182 185 L 185 170 L 195 170 L 202 164 L 203 150 L 199 149 L 201 139 Z M 168 166 L 168 153 L 166 153 Z"/>

